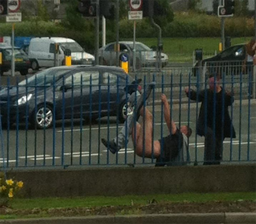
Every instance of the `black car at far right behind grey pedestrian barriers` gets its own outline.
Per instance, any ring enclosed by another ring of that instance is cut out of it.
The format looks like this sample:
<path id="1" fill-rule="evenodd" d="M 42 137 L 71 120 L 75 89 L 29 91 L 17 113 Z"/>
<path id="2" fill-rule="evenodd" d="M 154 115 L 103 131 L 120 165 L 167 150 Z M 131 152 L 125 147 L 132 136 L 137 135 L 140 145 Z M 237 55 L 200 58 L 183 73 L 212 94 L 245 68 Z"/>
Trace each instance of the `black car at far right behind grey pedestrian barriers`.
<path id="1" fill-rule="evenodd" d="M 218 53 L 216 56 L 202 60 L 202 66 L 207 73 L 217 72 L 226 75 L 249 74 L 252 71 L 253 61 L 245 61 L 245 44 L 234 45 Z M 194 68 L 199 67 L 196 61 Z M 194 69 L 194 75 L 196 69 Z"/>

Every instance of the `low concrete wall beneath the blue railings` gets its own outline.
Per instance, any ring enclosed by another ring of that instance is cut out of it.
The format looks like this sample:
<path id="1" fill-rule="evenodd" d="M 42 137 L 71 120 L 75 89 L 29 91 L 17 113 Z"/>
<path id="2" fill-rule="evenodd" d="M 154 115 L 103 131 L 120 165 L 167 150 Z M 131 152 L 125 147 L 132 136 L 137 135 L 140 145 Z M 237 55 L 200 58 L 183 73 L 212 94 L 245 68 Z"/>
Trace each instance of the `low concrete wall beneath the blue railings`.
<path id="1" fill-rule="evenodd" d="M 26 197 L 255 191 L 255 165 L 8 171 Z"/>

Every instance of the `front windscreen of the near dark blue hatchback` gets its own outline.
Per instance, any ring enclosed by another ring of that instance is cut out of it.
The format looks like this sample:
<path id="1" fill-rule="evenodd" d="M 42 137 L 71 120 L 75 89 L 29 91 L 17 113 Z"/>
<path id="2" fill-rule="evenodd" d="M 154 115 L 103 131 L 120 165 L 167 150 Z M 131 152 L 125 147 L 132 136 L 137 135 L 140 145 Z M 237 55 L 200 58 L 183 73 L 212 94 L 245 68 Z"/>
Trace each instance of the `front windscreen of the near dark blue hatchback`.
<path id="1" fill-rule="evenodd" d="M 28 78 L 27 86 L 51 86 L 54 81 L 57 82 L 70 71 L 71 69 L 46 69 Z M 26 86 L 26 79 L 19 82 L 19 86 Z"/>

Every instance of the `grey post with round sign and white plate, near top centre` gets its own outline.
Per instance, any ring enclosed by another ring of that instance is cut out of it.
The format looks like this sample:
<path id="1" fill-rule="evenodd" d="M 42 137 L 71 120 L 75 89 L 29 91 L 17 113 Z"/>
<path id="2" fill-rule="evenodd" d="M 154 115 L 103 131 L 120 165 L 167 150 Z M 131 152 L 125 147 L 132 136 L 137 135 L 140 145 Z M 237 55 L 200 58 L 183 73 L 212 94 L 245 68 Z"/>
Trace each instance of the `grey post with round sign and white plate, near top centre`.
<path id="1" fill-rule="evenodd" d="M 128 12 L 128 19 L 134 20 L 133 22 L 133 57 L 132 57 L 132 68 L 133 71 L 136 69 L 136 19 L 143 18 L 143 12 L 139 11 L 142 8 L 142 0 L 129 0 L 131 11 Z"/>

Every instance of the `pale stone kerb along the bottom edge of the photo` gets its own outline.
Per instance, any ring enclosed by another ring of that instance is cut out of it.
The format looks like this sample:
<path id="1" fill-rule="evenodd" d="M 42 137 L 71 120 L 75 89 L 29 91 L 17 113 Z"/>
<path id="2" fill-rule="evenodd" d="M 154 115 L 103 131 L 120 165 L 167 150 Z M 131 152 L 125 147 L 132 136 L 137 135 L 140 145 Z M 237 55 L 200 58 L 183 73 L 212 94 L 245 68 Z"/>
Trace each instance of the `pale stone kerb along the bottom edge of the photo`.
<path id="1" fill-rule="evenodd" d="M 240 223 L 255 224 L 255 213 L 186 213 L 148 215 L 76 216 L 1 220 L 1 224 L 94 224 L 94 223 Z"/>

